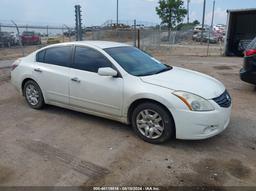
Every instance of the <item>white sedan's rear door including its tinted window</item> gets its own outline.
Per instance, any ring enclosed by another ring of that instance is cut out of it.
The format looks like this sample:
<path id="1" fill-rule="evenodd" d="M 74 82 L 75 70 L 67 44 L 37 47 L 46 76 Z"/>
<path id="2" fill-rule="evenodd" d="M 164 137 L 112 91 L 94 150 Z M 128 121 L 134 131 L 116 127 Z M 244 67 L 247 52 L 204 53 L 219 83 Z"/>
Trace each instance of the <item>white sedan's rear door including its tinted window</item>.
<path id="1" fill-rule="evenodd" d="M 72 46 L 57 46 L 37 54 L 33 74 L 45 101 L 69 104 L 69 71 Z"/>

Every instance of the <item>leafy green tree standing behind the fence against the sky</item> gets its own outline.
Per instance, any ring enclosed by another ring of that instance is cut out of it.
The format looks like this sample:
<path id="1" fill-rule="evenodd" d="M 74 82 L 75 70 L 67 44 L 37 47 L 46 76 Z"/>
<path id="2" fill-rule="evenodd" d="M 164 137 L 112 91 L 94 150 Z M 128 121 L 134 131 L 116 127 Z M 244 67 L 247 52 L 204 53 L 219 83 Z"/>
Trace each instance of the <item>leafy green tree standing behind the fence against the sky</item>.
<path id="1" fill-rule="evenodd" d="M 156 13 L 166 24 L 168 28 L 168 39 L 170 39 L 171 30 L 181 23 L 187 15 L 187 9 L 184 8 L 182 0 L 159 0 L 159 6 L 156 7 Z"/>

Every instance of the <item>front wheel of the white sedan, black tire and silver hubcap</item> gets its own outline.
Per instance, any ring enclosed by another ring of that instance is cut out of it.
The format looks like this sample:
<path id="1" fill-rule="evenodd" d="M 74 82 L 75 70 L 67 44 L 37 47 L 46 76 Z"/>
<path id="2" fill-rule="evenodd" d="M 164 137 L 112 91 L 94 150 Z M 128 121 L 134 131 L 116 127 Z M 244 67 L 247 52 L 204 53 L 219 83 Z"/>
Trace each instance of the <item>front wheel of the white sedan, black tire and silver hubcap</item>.
<path id="1" fill-rule="evenodd" d="M 135 133 L 148 143 L 161 144 L 175 135 L 172 116 L 157 103 L 145 102 L 138 105 L 132 112 L 131 120 Z"/>

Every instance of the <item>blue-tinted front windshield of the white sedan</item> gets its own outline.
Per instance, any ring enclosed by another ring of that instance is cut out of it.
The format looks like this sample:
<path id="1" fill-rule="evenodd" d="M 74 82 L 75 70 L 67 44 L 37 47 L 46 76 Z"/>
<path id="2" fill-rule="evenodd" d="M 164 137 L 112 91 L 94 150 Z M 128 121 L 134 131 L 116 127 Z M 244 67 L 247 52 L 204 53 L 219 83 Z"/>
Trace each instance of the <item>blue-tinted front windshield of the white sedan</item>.
<path id="1" fill-rule="evenodd" d="M 134 76 L 159 74 L 172 67 L 162 64 L 155 58 L 134 47 L 104 49 L 126 72 Z"/>

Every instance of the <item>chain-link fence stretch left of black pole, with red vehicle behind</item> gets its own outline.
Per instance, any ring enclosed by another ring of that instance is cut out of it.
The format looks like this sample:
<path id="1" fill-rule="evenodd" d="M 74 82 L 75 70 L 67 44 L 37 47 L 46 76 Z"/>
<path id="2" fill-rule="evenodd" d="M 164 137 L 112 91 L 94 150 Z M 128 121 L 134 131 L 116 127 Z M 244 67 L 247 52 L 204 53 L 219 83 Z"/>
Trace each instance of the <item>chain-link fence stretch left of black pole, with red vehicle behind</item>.
<path id="1" fill-rule="evenodd" d="M 25 56 L 48 44 L 74 41 L 73 34 L 74 29 L 65 24 L 0 20 L 0 59 Z"/>

